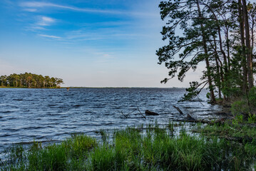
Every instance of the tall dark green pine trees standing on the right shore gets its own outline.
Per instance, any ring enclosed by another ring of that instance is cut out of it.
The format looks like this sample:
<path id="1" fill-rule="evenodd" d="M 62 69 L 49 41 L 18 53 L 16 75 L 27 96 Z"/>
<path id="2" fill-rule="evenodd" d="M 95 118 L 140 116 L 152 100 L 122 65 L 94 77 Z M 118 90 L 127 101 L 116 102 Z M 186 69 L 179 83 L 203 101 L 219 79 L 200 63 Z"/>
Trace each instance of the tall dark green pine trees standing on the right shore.
<path id="1" fill-rule="evenodd" d="M 205 63 L 200 81 L 190 83 L 183 100 L 195 98 L 208 85 L 208 97 L 230 101 L 256 97 L 256 4 L 246 0 L 169 0 L 160 2 L 160 16 L 167 21 L 161 31 L 167 45 L 156 52 L 169 78 L 185 74 Z M 253 94 L 253 92 L 251 94 Z"/>

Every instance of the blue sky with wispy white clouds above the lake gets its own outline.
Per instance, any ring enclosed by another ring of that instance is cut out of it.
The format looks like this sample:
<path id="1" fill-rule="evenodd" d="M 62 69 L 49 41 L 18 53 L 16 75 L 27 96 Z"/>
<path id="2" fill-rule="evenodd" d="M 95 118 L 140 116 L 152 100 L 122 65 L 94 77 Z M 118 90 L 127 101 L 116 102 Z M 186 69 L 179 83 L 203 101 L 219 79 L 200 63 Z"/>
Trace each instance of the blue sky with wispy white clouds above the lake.
<path id="1" fill-rule="evenodd" d="M 1 0 L 0 76 L 36 73 L 63 86 L 188 87 L 168 77 L 155 51 L 164 46 L 158 0 Z"/>

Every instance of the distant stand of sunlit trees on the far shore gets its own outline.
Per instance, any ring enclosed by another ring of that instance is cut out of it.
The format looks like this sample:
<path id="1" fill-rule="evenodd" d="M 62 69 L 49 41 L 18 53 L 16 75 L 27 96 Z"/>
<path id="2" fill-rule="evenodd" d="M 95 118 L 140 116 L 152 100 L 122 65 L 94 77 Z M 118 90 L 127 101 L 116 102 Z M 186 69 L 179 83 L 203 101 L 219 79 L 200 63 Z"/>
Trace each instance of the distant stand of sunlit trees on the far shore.
<path id="1" fill-rule="evenodd" d="M 0 86 L 2 87 L 59 88 L 61 84 L 63 84 L 61 78 L 36 75 L 34 73 L 13 73 L 10 76 L 0 77 Z"/>

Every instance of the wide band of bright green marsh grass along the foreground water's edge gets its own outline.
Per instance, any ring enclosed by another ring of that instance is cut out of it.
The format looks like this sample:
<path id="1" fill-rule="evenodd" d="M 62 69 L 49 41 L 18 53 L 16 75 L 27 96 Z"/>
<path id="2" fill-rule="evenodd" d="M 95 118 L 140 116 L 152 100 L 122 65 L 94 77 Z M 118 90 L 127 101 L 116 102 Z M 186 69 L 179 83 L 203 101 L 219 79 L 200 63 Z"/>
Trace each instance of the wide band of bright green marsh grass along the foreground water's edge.
<path id="1" fill-rule="evenodd" d="M 105 136 L 102 142 L 86 135 L 75 135 L 46 147 L 34 142 L 29 149 L 10 150 L 9 160 L 1 167 L 3 170 L 248 170 L 253 167 L 254 142 L 238 145 L 216 136 L 189 135 L 184 130 L 173 135 L 173 131 L 173 124 L 160 127 L 156 123 L 146 128 L 113 130 L 113 139 Z"/>

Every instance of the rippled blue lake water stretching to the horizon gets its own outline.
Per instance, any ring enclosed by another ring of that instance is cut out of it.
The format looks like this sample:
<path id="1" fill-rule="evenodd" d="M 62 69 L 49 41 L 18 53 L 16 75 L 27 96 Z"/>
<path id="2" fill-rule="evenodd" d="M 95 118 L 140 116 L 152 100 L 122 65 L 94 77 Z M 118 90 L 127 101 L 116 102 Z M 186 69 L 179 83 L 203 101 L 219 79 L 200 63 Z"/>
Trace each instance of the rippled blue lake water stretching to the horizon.
<path id="1" fill-rule="evenodd" d="M 184 93 L 183 88 L 0 88 L 0 152 L 13 143 L 59 141 L 73 133 L 97 136 L 101 129 L 183 119 L 173 105 L 194 118 L 221 117 L 215 114 L 220 106 L 207 103 L 206 90 L 199 95 L 202 102 L 178 103 Z M 137 108 L 159 115 L 145 119 Z"/>

